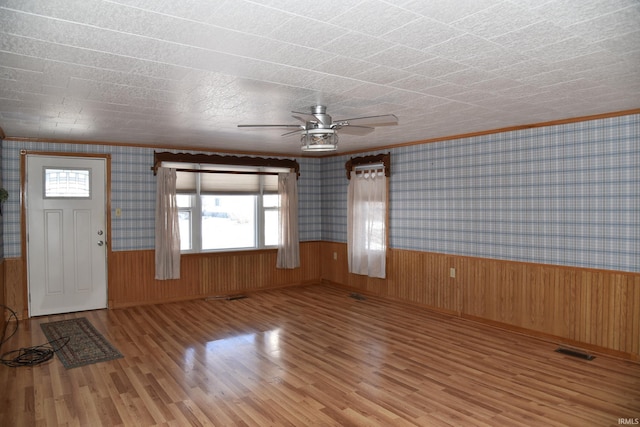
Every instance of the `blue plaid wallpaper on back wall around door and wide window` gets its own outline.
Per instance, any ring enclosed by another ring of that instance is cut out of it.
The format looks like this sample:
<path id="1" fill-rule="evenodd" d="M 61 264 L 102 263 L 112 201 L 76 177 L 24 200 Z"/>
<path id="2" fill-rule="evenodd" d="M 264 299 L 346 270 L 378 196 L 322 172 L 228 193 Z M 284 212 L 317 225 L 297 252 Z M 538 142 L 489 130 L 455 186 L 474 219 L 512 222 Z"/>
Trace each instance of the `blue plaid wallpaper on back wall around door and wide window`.
<path id="1" fill-rule="evenodd" d="M 153 249 L 156 178 L 153 148 L 56 144 L 3 141 L 2 181 L 11 194 L 4 205 L 4 256 L 20 256 L 20 151 L 76 152 L 111 154 L 111 206 L 122 209 L 122 216 L 111 213 L 111 247 L 114 251 Z M 167 151 L 166 149 L 156 149 Z M 320 240 L 320 163 L 300 159 L 298 185 L 301 209 L 301 240 Z"/>

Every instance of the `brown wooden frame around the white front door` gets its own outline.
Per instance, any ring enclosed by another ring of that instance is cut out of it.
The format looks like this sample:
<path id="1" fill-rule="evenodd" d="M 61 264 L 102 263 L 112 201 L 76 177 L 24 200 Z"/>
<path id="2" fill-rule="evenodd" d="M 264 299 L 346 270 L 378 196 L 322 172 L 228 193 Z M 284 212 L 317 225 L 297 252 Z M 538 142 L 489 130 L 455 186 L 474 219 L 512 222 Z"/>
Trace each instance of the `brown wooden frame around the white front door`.
<path id="1" fill-rule="evenodd" d="M 76 157 L 87 159 L 105 160 L 105 230 L 106 230 L 106 285 L 107 285 L 107 309 L 112 306 L 111 286 L 109 286 L 110 274 L 109 265 L 111 260 L 111 154 L 93 154 L 80 152 L 59 152 L 59 151 L 31 151 L 20 150 L 20 252 L 22 257 L 22 318 L 31 317 L 29 313 L 29 266 L 27 257 L 27 155 L 33 156 L 53 156 L 53 157 Z"/>

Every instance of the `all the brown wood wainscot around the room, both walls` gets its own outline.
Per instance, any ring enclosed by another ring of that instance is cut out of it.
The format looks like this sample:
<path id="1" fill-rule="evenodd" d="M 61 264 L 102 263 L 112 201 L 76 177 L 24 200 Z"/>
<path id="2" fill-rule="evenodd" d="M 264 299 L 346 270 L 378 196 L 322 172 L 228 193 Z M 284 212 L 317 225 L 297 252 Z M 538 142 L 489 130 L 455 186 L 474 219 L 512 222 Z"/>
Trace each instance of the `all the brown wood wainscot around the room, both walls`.
<path id="1" fill-rule="evenodd" d="M 227 296 L 319 281 L 640 361 L 640 274 L 389 250 L 387 278 L 350 274 L 343 243 L 305 242 L 299 269 L 276 251 L 183 256 L 180 280 L 154 279 L 154 251 L 112 252 L 109 307 Z M 5 305 L 28 316 L 22 259 L 5 259 Z M 451 277 L 451 269 L 455 277 Z"/>

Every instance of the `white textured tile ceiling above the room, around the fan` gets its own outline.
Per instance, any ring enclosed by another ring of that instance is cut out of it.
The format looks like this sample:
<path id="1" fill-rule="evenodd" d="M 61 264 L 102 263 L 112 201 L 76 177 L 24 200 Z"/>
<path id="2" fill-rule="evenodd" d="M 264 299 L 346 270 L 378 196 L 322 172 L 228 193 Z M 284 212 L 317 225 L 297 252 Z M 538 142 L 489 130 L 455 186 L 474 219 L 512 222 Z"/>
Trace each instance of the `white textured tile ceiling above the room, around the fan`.
<path id="1" fill-rule="evenodd" d="M 7 137 L 299 154 L 238 124 L 395 114 L 340 152 L 640 107 L 638 0 L 0 0 Z"/>

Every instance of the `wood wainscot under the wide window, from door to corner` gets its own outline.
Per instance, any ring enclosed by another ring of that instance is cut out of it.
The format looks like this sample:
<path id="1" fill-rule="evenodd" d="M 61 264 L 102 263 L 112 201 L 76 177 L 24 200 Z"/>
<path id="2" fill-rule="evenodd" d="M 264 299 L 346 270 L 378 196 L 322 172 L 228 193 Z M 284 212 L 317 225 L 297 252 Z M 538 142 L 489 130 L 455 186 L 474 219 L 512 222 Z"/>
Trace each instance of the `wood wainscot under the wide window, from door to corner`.
<path id="1" fill-rule="evenodd" d="M 277 269 L 275 249 L 183 255 L 180 279 L 155 280 L 155 252 L 113 252 L 109 307 L 229 296 L 317 282 L 319 242 L 300 244 L 300 268 Z"/>

